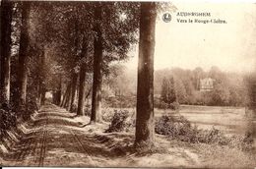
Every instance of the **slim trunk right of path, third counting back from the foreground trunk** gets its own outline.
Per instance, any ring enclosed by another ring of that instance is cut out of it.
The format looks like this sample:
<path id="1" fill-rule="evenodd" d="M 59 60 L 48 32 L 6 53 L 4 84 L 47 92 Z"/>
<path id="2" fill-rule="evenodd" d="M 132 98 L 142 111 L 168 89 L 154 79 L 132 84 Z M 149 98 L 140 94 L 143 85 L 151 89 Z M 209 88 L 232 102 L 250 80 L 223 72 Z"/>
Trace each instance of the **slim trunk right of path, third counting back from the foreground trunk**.
<path id="1" fill-rule="evenodd" d="M 79 97 L 78 97 L 78 116 L 84 116 L 84 106 L 85 106 L 85 92 L 86 92 L 86 71 L 87 64 L 83 63 L 80 69 L 80 78 L 79 78 Z"/>

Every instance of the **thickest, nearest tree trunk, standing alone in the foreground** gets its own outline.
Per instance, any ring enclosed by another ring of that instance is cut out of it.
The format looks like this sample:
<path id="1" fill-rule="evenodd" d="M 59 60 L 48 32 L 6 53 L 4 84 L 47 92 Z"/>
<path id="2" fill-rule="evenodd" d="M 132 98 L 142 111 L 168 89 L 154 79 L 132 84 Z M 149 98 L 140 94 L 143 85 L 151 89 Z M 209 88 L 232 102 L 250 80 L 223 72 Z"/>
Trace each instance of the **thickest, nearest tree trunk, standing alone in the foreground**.
<path id="1" fill-rule="evenodd" d="M 150 147 L 155 141 L 154 52 L 156 3 L 141 3 L 137 115 L 135 145 Z"/>

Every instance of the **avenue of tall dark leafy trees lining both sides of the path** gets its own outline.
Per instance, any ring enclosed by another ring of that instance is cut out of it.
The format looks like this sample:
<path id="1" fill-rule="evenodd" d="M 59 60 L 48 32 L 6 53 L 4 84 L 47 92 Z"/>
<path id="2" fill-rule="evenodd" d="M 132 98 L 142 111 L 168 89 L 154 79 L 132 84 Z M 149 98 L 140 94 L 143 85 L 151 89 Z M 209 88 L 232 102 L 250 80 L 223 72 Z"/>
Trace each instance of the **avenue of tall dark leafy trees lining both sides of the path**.
<path id="1" fill-rule="evenodd" d="M 102 78 L 111 62 L 128 58 L 139 42 L 135 144 L 154 144 L 153 65 L 161 7 L 155 2 L 2 0 L 1 108 L 23 116 L 28 103 L 43 105 L 50 90 L 53 103 L 68 110 L 78 95 L 81 116 L 92 92 L 90 123 L 100 122 Z"/>

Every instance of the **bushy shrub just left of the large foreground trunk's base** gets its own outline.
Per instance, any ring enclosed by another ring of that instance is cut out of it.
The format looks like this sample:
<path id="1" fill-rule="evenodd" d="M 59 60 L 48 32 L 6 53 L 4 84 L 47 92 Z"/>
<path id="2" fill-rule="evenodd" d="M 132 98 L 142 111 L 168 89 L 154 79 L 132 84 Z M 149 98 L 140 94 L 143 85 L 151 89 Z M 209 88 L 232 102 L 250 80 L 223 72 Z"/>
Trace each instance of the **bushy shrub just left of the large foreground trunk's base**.
<path id="1" fill-rule="evenodd" d="M 114 110 L 114 116 L 112 118 L 111 124 L 109 125 L 109 128 L 105 131 L 106 133 L 112 133 L 112 132 L 128 132 L 131 127 L 134 126 L 134 120 L 131 118 L 128 118 L 130 113 L 128 110 Z"/>

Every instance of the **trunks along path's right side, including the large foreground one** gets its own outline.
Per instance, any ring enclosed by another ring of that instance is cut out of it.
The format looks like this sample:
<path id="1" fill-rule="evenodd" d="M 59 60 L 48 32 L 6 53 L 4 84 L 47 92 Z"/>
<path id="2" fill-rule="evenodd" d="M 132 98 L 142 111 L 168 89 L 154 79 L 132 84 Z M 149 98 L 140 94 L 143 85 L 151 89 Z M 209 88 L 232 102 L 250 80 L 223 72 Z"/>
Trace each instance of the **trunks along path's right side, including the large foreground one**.
<path id="1" fill-rule="evenodd" d="M 137 115 L 136 115 L 136 140 L 135 145 L 151 146 L 155 141 L 154 127 L 154 52 L 155 52 L 155 28 L 157 9 L 155 2 L 141 3 L 140 38 L 139 38 L 139 65 L 138 65 L 138 87 L 137 87 Z M 102 20 L 102 9 L 98 5 L 95 9 L 96 24 L 94 30 L 94 83 L 92 98 L 91 123 L 100 121 L 101 102 L 101 67 L 102 67 L 102 32 L 100 21 Z M 84 115 L 85 103 L 85 78 L 86 64 L 82 64 L 79 81 L 78 115 Z M 63 101 L 71 92 L 70 85 L 64 95 Z M 73 95 L 73 93 L 71 94 Z M 66 98 L 67 97 L 67 98 Z"/>

